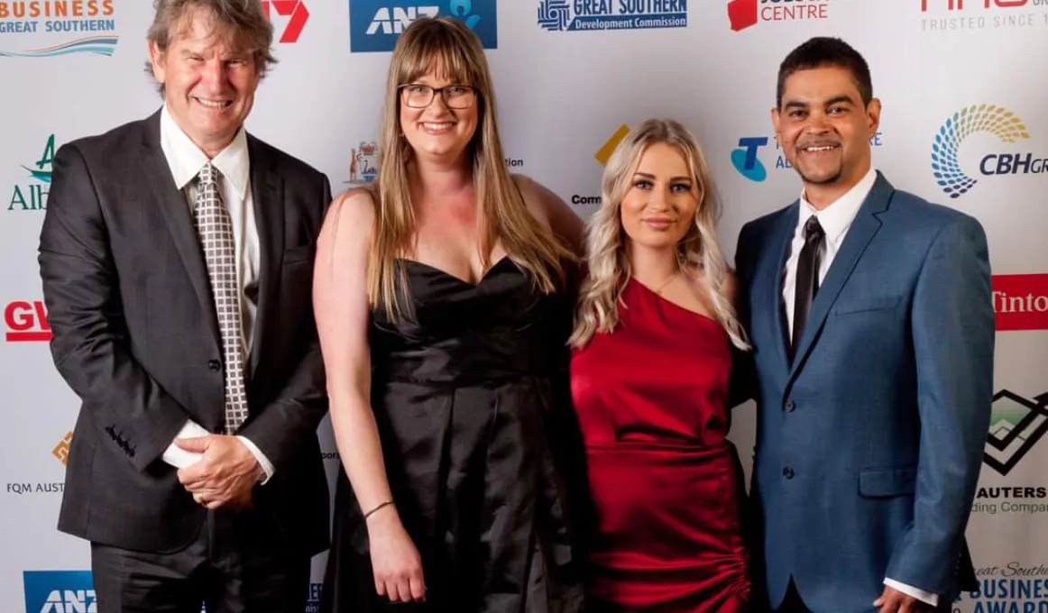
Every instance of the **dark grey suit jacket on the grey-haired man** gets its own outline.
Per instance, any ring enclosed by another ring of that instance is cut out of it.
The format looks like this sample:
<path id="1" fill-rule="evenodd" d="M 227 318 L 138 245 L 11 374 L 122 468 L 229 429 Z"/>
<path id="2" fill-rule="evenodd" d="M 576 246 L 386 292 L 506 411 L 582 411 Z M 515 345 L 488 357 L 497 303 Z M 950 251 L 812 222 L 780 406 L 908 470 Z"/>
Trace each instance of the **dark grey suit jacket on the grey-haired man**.
<path id="1" fill-rule="evenodd" d="M 146 551 L 197 534 L 205 509 L 161 455 L 187 419 L 211 432 L 223 419 L 218 323 L 159 116 L 59 149 L 39 256 L 54 364 L 83 401 L 59 529 Z M 255 487 L 256 512 L 276 519 L 274 538 L 311 555 L 328 546 L 316 438 L 327 396 L 311 285 L 331 189 L 254 136 L 247 146 L 261 257 L 250 414 L 237 434 L 276 467 Z"/>

